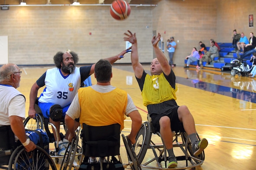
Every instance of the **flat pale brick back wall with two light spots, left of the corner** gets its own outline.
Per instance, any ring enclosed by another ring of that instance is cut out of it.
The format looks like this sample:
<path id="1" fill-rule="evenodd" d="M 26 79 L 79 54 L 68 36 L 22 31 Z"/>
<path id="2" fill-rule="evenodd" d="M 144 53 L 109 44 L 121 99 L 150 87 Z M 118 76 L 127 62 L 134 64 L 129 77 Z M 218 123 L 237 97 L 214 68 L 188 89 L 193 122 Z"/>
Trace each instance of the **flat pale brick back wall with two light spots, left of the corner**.
<path id="1" fill-rule="evenodd" d="M 110 6 L 12 6 L 0 10 L 0 35 L 8 35 L 9 62 L 53 64 L 57 51 L 79 54 L 79 63 L 95 63 L 126 49 L 123 33 L 138 34 L 141 62 L 152 59 L 151 7 L 133 7 L 128 19 L 110 16 Z M 146 26 L 149 25 L 149 28 Z M 90 35 L 91 32 L 91 35 Z M 130 54 L 118 63 L 130 63 Z"/>

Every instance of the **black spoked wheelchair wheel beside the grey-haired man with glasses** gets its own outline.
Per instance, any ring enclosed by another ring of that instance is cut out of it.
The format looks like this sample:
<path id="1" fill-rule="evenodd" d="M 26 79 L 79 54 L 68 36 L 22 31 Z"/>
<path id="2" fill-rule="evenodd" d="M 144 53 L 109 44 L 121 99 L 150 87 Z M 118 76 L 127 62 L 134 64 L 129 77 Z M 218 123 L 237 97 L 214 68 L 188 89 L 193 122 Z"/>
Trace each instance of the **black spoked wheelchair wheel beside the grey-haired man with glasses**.
<path id="1" fill-rule="evenodd" d="M 21 145 L 13 151 L 8 170 L 57 170 L 57 168 L 49 154 L 39 146 L 33 151 L 26 152 Z"/>

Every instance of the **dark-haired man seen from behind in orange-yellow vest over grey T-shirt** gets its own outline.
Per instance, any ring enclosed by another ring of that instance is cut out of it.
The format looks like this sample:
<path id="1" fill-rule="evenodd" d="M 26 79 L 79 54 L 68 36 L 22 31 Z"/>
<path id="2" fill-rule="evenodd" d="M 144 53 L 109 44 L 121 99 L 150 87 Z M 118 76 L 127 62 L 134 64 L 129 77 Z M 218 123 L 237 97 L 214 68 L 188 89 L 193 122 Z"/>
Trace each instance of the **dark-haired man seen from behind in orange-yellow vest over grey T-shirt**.
<path id="1" fill-rule="evenodd" d="M 132 98 L 126 91 L 110 85 L 112 66 L 107 60 L 99 60 L 95 64 L 94 76 L 97 85 L 80 88 L 68 108 L 65 116 L 67 128 L 74 129 L 74 120 L 80 117 L 80 124 L 85 123 L 89 126 L 119 123 L 121 131 L 126 116 L 129 116 L 132 120 L 132 130 L 128 138 L 134 144 L 142 118 Z M 74 136 L 75 132 L 70 132 L 68 140 L 71 141 Z M 95 163 L 96 158 L 90 157 L 89 162 Z"/>

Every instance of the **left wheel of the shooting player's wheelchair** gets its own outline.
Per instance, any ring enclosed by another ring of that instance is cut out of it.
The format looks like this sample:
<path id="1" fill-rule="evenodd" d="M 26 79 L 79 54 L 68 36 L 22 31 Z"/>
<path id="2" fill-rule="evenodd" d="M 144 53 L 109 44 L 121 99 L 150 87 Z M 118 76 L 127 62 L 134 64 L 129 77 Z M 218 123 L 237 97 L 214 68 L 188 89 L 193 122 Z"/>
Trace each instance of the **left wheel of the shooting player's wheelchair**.
<path id="1" fill-rule="evenodd" d="M 149 148 L 151 135 L 152 133 L 151 133 L 149 122 L 144 122 L 141 125 L 139 132 L 136 136 L 136 143 L 133 145 L 133 149 L 138 158 L 139 164 L 142 163 L 145 157 L 146 151 Z"/>

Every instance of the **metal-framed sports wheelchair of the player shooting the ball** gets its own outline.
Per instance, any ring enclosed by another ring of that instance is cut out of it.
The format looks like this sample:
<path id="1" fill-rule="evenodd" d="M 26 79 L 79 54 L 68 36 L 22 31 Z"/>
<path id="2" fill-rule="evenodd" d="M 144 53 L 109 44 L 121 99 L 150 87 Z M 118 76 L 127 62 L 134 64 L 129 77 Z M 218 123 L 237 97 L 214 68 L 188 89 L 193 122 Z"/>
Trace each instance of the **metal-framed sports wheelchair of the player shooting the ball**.
<path id="1" fill-rule="evenodd" d="M 192 146 L 190 139 L 188 138 L 187 133 L 185 130 L 181 130 L 179 132 L 173 132 L 173 150 L 175 152 L 177 161 L 178 161 L 178 167 L 175 168 L 168 168 L 167 167 L 167 150 L 165 148 L 165 145 L 163 144 L 163 140 L 161 138 L 160 132 L 155 132 L 154 127 L 151 123 L 151 118 L 148 115 L 148 122 L 145 122 L 142 124 L 137 136 L 136 136 L 136 143 L 133 145 L 133 149 L 135 151 L 135 154 L 138 159 L 138 163 L 141 165 L 141 167 L 150 168 L 150 169 L 175 169 L 175 170 L 185 170 L 185 169 L 193 169 L 195 170 L 195 167 L 198 167 L 204 163 L 204 151 L 197 155 L 192 156 Z M 161 140 L 162 144 L 155 144 L 151 137 L 152 133 L 158 135 Z M 200 140 L 198 134 L 197 134 L 198 140 Z M 180 148 L 180 150 L 175 149 Z M 143 159 L 146 155 L 146 152 L 148 149 L 151 149 L 154 158 L 152 158 L 149 161 L 143 162 Z M 159 151 L 159 155 L 157 154 L 157 151 Z M 180 156 L 177 156 L 180 155 Z M 164 161 L 165 165 L 162 166 L 161 162 Z M 143 164 L 142 164 L 143 162 Z"/>

